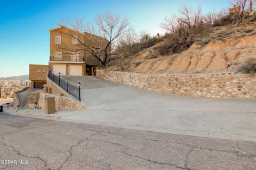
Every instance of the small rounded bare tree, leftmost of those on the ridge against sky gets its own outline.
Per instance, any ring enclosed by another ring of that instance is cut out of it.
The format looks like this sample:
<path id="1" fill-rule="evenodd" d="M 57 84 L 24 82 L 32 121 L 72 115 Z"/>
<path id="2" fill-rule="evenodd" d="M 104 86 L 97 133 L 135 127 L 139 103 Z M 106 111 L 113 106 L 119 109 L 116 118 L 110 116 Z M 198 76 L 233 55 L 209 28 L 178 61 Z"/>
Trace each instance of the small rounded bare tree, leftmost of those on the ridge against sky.
<path id="1" fill-rule="evenodd" d="M 160 27 L 168 32 L 174 33 L 175 29 L 177 29 L 177 16 L 173 15 L 171 18 L 164 18 L 164 21 L 160 23 Z"/>

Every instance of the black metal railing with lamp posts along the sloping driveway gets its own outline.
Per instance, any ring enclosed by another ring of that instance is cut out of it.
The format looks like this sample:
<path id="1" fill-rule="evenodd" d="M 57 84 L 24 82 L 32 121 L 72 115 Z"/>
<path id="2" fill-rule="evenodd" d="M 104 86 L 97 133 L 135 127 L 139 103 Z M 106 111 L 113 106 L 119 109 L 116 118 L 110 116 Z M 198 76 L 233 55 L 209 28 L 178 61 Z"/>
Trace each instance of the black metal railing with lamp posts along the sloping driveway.
<path id="1" fill-rule="evenodd" d="M 51 72 L 48 72 L 48 78 L 51 79 L 53 82 L 58 84 L 59 87 L 66 90 L 70 95 L 77 98 L 79 101 L 81 101 L 81 89 L 80 89 L 80 83 L 78 87 L 74 86 L 73 84 L 68 83 L 67 81 L 60 78 L 60 75 L 55 75 Z"/>

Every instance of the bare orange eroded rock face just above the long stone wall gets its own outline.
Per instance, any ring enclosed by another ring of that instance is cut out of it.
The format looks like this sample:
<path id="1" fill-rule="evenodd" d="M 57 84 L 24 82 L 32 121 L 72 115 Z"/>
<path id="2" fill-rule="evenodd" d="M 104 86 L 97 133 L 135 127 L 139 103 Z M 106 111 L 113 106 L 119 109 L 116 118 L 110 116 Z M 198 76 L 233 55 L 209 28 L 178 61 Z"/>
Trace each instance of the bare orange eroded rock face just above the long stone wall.
<path id="1" fill-rule="evenodd" d="M 209 73 L 235 71 L 247 57 L 256 56 L 256 35 L 215 41 L 204 47 L 194 44 L 185 52 L 172 56 L 158 56 L 146 59 L 148 51 L 138 55 L 131 72 L 155 73 Z"/>

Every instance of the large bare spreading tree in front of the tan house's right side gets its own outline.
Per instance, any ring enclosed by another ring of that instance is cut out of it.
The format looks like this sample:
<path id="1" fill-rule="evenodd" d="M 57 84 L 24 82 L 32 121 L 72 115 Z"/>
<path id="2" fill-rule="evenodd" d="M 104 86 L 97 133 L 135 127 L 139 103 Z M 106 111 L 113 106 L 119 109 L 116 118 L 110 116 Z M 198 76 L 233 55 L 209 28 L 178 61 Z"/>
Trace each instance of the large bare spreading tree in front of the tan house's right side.
<path id="1" fill-rule="evenodd" d="M 121 18 L 119 15 L 107 13 L 98 15 L 92 23 L 84 23 L 83 19 L 67 20 L 67 22 L 61 21 L 62 26 L 65 26 L 66 30 L 62 31 L 65 35 L 73 37 L 78 40 L 78 44 L 74 48 L 70 49 L 70 46 L 61 46 L 62 50 L 68 52 L 85 53 L 86 56 L 94 57 L 98 60 L 102 67 L 105 67 L 110 61 L 116 60 L 122 57 L 122 54 L 114 53 L 111 50 L 111 46 L 115 46 L 117 41 L 122 36 L 130 31 L 129 19 Z M 71 28 L 71 30 L 69 29 Z M 95 28 L 98 30 L 95 31 Z M 97 46 L 95 42 L 95 33 L 100 36 L 102 44 Z"/>

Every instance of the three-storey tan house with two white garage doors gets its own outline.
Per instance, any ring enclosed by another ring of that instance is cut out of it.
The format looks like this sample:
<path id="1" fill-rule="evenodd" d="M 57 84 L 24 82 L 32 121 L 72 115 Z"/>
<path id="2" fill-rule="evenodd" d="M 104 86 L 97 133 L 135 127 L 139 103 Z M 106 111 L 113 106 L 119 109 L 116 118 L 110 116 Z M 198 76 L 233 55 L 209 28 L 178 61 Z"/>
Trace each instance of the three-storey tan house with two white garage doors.
<path id="1" fill-rule="evenodd" d="M 101 63 L 84 45 L 102 48 L 108 40 L 87 32 L 78 33 L 61 26 L 50 29 L 50 61 L 53 74 L 61 75 L 95 75 Z M 103 53 L 99 54 L 103 59 Z"/>

